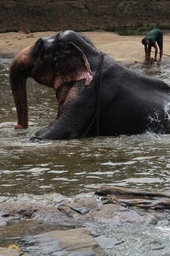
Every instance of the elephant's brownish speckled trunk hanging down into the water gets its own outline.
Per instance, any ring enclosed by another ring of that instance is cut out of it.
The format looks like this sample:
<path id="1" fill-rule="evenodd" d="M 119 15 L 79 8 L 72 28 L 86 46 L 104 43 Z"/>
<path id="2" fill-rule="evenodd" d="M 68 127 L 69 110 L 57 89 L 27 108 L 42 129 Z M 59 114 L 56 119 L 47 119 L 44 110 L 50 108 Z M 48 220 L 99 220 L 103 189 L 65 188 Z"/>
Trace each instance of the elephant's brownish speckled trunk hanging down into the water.
<path id="1" fill-rule="evenodd" d="M 17 110 L 17 125 L 14 129 L 28 127 L 26 79 L 30 76 L 29 71 L 33 66 L 33 46 L 31 45 L 18 53 L 10 66 L 10 85 Z"/>

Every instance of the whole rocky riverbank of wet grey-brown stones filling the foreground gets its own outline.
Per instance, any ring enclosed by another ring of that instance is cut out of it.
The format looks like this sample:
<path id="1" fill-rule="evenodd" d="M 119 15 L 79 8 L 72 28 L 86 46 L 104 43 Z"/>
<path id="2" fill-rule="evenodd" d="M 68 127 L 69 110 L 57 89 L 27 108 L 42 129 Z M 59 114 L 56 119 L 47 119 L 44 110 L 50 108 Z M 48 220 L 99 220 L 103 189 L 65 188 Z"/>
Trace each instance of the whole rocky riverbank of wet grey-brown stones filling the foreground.
<path id="1" fill-rule="evenodd" d="M 130 202 L 133 203 L 130 205 Z M 152 210 L 147 210 L 148 208 Z M 21 251 L 1 247 L 0 255 L 117 255 L 114 254 L 116 246 L 124 244 L 126 247 L 128 244 L 123 233 L 132 235 L 134 231 L 152 232 L 165 225 L 169 228 L 169 209 L 170 193 L 114 186 L 101 187 L 91 196 L 76 196 L 73 201 L 3 202 L 0 204 L 1 233 L 8 230 L 10 223 L 17 221 L 18 225 L 25 225 L 25 234 L 10 238 Z M 34 229 L 42 223 L 51 225 L 52 231 L 48 229 L 46 232 L 44 228 L 43 232 L 35 234 L 34 231 L 34 234 L 28 235 L 25 221 L 32 222 Z M 58 225 L 56 229 L 55 225 Z M 157 248 L 151 244 L 147 255 L 169 255 L 163 254 L 168 250 L 170 251 L 170 247 L 166 243 L 157 245 Z"/>

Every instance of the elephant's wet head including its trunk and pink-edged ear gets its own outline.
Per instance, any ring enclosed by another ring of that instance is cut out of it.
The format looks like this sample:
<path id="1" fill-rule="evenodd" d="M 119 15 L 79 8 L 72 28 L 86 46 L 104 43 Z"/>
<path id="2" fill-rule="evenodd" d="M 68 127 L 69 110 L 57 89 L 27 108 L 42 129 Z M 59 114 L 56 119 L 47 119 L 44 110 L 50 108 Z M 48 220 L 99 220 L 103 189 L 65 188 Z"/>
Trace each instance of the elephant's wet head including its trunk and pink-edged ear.
<path id="1" fill-rule="evenodd" d="M 85 79 L 89 86 L 93 79 L 93 57 L 99 51 L 88 37 L 73 31 L 42 37 L 16 55 L 10 67 L 10 84 L 17 110 L 15 129 L 28 127 L 26 79 L 54 88 Z M 97 58 L 96 58 L 97 60 Z"/>

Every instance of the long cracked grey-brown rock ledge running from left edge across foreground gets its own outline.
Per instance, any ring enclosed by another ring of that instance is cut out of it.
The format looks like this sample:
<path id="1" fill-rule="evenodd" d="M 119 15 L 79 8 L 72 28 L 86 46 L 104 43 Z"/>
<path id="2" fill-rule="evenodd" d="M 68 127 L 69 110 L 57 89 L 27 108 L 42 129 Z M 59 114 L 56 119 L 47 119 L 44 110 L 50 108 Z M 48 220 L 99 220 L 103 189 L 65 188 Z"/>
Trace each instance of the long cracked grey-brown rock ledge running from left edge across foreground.
<path id="1" fill-rule="evenodd" d="M 84 220 L 98 220 L 103 223 L 145 223 L 157 224 L 157 219 L 152 214 L 139 214 L 137 211 L 127 209 L 117 204 L 98 203 L 96 199 L 87 197 L 76 199 L 73 203 L 64 203 L 58 208 L 54 204 L 42 205 L 21 202 L 0 204 L 0 221 L 2 225 L 9 220 L 31 217 L 44 222 L 64 222 L 70 218 Z"/>

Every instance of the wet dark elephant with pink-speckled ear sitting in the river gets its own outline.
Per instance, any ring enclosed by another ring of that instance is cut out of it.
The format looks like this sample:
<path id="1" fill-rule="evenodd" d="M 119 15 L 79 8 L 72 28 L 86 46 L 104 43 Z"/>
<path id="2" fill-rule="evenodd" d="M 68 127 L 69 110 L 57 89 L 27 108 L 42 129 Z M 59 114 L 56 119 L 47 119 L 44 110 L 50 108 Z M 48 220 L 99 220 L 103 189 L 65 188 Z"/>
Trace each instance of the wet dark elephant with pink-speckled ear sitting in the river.
<path id="1" fill-rule="evenodd" d="M 14 129 L 28 127 L 26 80 L 33 77 L 54 88 L 59 102 L 56 119 L 36 132 L 39 138 L 80 139 L 87 132 L 90 136 L 169 134 L 170 86 L 108 55 L 103 54 L 101 62 L 100 56 L 87 36 L 70 30 L 39 38 L 18 53 L 9 71 L 17 110 Z"/>

